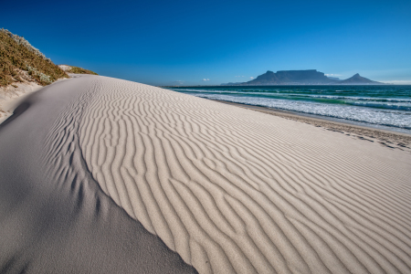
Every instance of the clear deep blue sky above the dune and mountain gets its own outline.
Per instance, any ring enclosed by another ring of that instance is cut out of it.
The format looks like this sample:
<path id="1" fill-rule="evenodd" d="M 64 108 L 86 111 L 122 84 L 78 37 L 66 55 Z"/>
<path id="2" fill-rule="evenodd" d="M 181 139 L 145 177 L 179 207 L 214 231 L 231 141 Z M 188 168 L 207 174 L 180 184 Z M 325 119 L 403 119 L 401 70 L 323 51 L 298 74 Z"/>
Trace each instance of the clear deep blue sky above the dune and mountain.
<path id="1" fill-rule="evenodd" d="M 56 64 L 152 85 L 311 69 L 411 84 L 411 1 L 10 1 L 0 27 Z"/>

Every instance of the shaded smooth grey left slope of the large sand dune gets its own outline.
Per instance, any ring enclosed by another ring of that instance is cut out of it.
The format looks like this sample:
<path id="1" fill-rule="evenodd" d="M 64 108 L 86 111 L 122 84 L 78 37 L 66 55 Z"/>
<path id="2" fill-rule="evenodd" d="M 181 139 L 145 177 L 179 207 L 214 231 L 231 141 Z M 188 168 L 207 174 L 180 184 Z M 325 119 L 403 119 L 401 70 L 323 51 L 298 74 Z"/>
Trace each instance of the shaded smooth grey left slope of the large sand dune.
<path id="1" fill-rule="evenodd" d="M 196 273 L 90 175 L 76 120 L 62 122 L 92 84 L 54 83 L 0 125 L 0 273 Z"/>

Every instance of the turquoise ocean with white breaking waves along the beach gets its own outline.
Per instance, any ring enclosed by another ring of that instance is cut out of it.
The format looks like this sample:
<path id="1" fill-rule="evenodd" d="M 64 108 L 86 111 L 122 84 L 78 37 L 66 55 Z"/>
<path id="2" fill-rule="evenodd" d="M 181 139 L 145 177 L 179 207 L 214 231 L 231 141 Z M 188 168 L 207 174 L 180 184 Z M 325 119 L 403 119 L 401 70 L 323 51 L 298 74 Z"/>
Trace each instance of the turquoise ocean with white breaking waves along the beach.
<path id="1" fill-rule="evenodd" d="M 411 134 L 411 86 L 217 86 L 169 90 Z"/>

